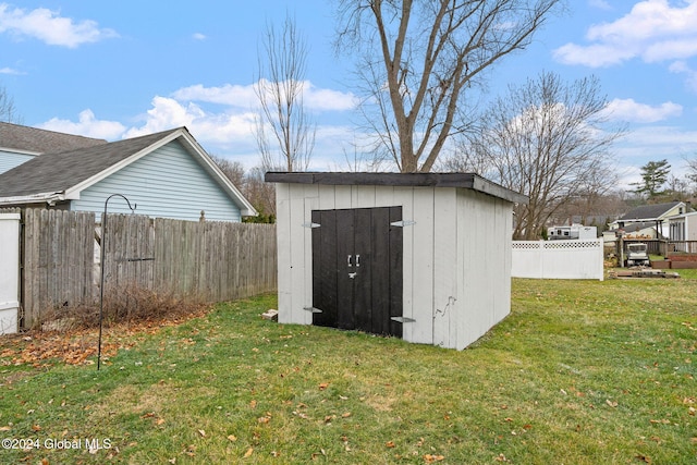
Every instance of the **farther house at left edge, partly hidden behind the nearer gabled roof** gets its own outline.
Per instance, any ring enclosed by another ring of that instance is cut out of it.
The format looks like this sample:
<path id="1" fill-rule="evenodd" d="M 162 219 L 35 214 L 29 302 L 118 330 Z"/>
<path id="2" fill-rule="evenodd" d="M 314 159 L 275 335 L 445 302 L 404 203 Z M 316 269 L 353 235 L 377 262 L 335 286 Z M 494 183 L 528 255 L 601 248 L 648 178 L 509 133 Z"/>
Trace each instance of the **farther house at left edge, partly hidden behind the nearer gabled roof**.
<path id="1" fill-rule="evenodd" d="M 37 155 L 103 144 L 107 140 L 0 122 L 0 173 L 19 167 Z"/>

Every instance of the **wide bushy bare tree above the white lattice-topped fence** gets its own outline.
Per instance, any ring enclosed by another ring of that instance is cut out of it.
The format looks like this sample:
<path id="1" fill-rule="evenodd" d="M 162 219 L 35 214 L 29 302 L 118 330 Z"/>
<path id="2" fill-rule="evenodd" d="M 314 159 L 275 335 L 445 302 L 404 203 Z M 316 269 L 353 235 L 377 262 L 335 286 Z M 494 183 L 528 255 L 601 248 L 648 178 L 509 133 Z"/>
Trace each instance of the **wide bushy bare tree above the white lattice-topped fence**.
<path id="1" fill-rule="evenodd" d="M 597 198 L 615 187 L 610 169 L 612 143 L 625 133 L 610 127 L 598 79 L 562 83 L 542 73 L 521 87 L 510 87 L 481 118 L 480 131 L 468 134 L 466 158 L 450 161 L 456 171 L 480 174 L 529 197 L 514 208 L 514 238 L 541 236 L 564 204 Z"/>

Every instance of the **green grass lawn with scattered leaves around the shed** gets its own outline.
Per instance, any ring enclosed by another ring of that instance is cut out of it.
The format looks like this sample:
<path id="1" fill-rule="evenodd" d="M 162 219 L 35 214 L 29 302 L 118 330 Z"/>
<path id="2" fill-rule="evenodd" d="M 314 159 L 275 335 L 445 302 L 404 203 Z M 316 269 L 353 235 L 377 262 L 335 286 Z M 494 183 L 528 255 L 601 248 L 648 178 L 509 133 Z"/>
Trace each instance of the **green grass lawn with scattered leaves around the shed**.
<path id="1" fill-rule="evenodd" d="M 108 330 L 130 347 L 100 371 L 0 342 L 0 463 L 697 463 L 697 279 L 514 280 L 512 315 L 462 352 L 259 317 L 274 306 Z"/>

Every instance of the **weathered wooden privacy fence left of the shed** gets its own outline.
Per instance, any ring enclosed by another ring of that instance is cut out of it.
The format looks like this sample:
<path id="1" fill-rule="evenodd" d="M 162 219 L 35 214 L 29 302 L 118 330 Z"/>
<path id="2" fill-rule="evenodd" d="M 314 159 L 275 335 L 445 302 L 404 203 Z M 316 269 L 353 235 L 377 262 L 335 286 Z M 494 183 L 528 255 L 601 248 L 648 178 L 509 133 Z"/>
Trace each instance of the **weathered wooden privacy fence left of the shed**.
<path id="1" fill-rule="evenodd" d="M 99 298 L 101 227 L 89 212 L 23 213 L 23 327 Z M 206 302 L 274 291 L 276 225 L 109 215 L 105 293 L 129 285 Z"/>

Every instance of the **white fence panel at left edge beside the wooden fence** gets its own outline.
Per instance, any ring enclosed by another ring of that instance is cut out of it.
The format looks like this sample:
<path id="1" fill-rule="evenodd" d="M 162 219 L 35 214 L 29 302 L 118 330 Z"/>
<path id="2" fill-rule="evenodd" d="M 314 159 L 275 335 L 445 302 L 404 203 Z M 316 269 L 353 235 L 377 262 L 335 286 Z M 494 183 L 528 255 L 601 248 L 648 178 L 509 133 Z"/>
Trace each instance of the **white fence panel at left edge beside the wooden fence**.
<path id="1" fill-rule="evenodd" d="M 17 332 L 20 213 L 0 213 L 0 334 Z"/>

